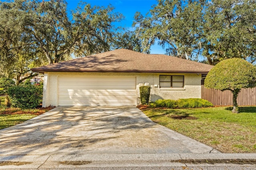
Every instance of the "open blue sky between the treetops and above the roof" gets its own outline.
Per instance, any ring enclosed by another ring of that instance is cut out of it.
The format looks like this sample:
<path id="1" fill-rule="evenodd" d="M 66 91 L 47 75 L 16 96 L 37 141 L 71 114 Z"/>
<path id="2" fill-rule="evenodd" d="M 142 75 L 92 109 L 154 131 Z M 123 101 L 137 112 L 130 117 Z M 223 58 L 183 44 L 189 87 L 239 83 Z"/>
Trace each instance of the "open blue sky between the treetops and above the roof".
<path id="1" fill-rule="evenodd" d="M 67 9 L 74 10 L 80 0 L 66 0 L 68 3 Z M 152 5 L 157 4 L 156 0 L 83 0 L 92 6 L 108 6 L 111 4 L 115 7 L 115 12 L 120 12 L 125 16 L 125 19 L 120 23 L 122 27 L 131 29 L 132 22 L 134 20 L 135 12 L 140 12 L 142 15 L 146 15 L 151 9 Z M 161 46 L 155 44 L 151 47 L 151 53 L 164 54 L 165 51 Z"/>

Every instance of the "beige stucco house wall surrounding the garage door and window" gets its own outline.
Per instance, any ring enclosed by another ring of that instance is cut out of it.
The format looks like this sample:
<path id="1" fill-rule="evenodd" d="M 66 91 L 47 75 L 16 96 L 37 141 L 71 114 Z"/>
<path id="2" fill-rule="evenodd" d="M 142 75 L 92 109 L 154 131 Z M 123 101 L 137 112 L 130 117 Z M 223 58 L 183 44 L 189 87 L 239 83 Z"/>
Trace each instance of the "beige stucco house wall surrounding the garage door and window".
<path id="1" fill-rule="evenodd" d="M 159 75 L 184 75 L 184 88 L 159 89 Z M 136 77 L 137 97 L 139 86 L 149 83 L 151 87 L 150 101 L 157 99 L 185 99 L 201 98 L 201 74 L 187 73 L 58 73 L 48 72 L 44 77 L 43 107 L 58 106 L 58 76 L 101 77 L 101 76 L 129 76 Z M 158 85 L 158 87 L 154 87 Z M 137 98 L 137 105 L 139 99 Z"/>

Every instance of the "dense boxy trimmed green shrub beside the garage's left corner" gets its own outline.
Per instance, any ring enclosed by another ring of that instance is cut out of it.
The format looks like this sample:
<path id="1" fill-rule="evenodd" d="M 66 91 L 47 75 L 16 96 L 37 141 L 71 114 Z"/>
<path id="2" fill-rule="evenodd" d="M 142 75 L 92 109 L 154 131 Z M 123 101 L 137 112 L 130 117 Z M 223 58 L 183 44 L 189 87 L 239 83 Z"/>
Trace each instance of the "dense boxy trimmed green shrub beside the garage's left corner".
<path id="1" fill-rule="evenodd" d="M 36 85 L 18 85 L 10 87 L 8 94 L 14 107 L 32 109 L 42 101 L 42 87 Z"/>

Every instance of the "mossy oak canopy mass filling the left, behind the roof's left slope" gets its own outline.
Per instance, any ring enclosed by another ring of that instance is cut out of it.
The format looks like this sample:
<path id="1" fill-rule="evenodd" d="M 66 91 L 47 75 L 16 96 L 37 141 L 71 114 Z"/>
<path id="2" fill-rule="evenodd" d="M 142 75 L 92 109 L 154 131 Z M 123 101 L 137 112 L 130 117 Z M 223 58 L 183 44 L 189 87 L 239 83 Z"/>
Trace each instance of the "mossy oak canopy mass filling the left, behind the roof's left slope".
<path id="1" fill-rule="evenodd" d="M 64 0 L 0 2 L 2 76 L 20 82 L 31 67 L 109 51 L 123 18 L 112 6 L 80 3 L 68 13 Z"/>

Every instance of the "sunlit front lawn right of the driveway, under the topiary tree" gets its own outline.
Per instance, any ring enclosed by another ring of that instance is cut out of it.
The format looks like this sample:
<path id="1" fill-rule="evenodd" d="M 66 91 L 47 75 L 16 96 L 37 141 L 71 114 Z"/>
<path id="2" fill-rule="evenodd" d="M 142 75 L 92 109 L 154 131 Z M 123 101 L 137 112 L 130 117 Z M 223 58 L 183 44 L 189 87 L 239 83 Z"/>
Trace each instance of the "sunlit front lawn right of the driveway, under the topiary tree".
<path id="1" fill-rule="evenodd" d="M 142 109 L 154 122 L 223 153 L 256 153 L 256 107 Z"/>

